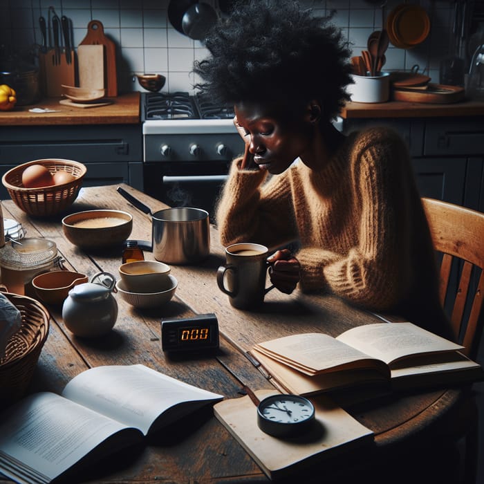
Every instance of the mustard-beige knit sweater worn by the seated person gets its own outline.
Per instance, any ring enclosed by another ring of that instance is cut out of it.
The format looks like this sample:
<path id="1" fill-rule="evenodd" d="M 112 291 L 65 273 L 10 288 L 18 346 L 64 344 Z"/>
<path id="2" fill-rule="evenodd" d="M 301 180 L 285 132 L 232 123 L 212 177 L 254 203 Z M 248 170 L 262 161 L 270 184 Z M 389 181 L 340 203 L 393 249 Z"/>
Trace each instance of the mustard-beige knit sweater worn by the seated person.
<path id="1" fill-rule="evenodd" d="M 409 153 L 387 128 L 351 133 L 321 171 L 239 169 L 218 203 L 224 245 L 299 240 L 303 291 L 407 317 L 452 338 L 438 303 L 434 251 Z"/>

